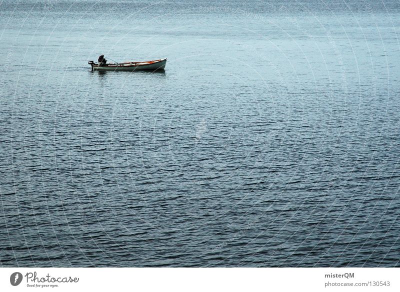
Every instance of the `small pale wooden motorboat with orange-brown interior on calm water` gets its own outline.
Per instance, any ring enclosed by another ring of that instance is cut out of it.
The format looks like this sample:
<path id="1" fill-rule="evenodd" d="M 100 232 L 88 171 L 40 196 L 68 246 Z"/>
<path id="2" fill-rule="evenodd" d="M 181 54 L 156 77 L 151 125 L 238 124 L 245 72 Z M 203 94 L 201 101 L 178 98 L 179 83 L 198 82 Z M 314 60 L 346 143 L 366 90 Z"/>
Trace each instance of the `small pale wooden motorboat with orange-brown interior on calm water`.
<path id="1" fill-rule="evenodd" d="M 138 71 L 138 70 L 156 71 L 156 70 L 164 70 L 166 64 L 166 58 L 159 60 L 152 60 L 152 61 L 144 61 L 144 62 L 122 62 L 122 63 L 109 63 L 104 65 L 94 63 L 93 61 L 88 61 L 88 64 L 91 65 L 92 70 L 98 70 L 98 71 Z"/>

